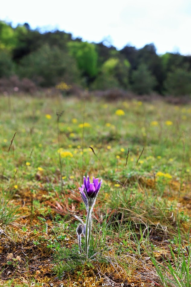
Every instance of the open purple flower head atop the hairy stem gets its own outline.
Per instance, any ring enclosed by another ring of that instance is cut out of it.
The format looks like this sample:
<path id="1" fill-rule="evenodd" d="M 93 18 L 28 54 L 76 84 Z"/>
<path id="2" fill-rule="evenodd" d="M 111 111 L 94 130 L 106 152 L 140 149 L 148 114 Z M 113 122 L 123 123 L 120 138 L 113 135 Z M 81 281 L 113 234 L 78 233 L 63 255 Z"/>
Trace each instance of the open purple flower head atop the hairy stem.
<path id="1" fill-rule="evenodd" d="M 102 183 L 102 179 L 99 182 L 98 178 L 94 178 L 93 176 L 93 183 L 90 183 L 89 176 L 87 176 L 87 180 L 84 176 L 84 184 L 79 187 L 81 198 L 84 201 L 86 207 L 92 206 L 95 202 L 94 199 L 97 197 L 98 192 L 100 191 L 100 186 Z"/>

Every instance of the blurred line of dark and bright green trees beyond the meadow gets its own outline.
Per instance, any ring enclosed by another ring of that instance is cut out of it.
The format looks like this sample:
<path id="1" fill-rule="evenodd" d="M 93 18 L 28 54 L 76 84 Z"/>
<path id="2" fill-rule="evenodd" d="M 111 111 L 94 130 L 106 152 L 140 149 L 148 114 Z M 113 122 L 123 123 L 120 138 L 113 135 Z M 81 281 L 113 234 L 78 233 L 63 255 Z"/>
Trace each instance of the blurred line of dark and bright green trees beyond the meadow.
<path id="1" fill-rule="evenodd" d="M 0 21 L 0 78 L 13 75 L 41 87 L 62 81 L 90 90 L 191 95 L 191 56 L 158 55 L 152 43 L 141 49 L 126 45 L 117 50 L 104 41 L 73 39 L 64 31 L 41 33 L 27 23 L 12 27 Z"/>

